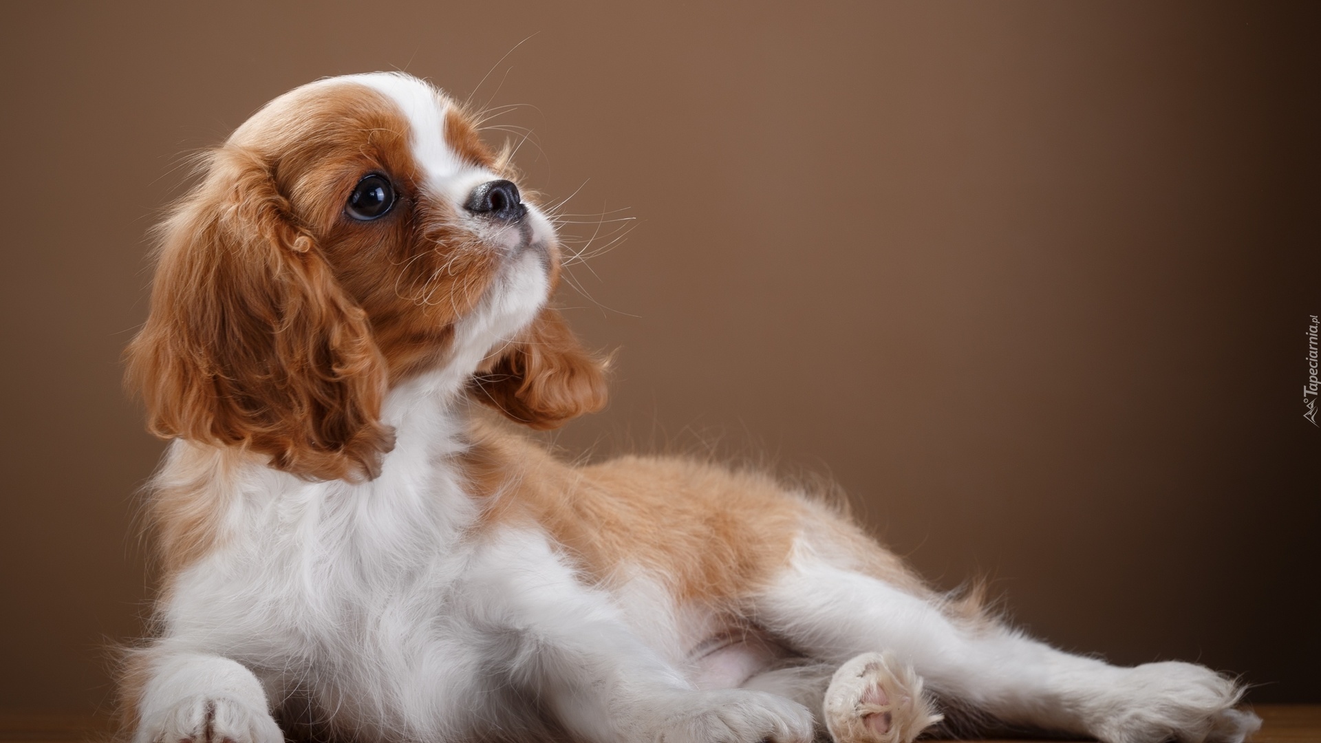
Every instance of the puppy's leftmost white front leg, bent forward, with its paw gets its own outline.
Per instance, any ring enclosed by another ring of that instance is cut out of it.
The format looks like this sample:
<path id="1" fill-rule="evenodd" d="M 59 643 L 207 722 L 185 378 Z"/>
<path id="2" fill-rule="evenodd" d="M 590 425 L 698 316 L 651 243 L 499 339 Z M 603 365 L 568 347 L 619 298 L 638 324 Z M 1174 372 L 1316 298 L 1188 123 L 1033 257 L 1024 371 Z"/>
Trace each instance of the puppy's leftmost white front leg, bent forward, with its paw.
<path id="1" fill-rule="evenodd" d="M 283 743 L 262 682 L 243 665 L 201 653 L 145 660 L 133 743 Z"/>

